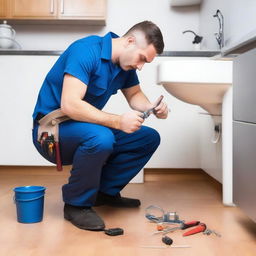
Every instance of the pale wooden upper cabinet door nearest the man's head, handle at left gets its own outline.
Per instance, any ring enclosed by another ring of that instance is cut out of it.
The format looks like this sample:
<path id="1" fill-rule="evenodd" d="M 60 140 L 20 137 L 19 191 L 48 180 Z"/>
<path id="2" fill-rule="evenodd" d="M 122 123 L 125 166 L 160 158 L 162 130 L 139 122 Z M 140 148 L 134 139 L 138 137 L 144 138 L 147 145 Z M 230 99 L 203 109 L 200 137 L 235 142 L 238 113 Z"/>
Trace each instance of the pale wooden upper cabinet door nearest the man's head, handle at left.
<path id="1" fill-rule="evenodd" d="M 59 0 L 59 18 L 105 18 L 106 0 Z"/>

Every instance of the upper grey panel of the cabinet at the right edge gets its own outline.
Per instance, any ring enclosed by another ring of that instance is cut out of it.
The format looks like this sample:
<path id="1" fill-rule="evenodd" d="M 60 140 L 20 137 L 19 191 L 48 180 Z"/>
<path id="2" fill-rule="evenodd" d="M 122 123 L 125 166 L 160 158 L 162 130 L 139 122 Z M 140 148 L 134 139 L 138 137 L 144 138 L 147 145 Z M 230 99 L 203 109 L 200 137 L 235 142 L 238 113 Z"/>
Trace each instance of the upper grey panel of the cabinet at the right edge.
<path id="1" fill-rule="evenodd" d="M 234 120 L 256 123 L 256 49 L 235 58 L 233 67 Z"/>

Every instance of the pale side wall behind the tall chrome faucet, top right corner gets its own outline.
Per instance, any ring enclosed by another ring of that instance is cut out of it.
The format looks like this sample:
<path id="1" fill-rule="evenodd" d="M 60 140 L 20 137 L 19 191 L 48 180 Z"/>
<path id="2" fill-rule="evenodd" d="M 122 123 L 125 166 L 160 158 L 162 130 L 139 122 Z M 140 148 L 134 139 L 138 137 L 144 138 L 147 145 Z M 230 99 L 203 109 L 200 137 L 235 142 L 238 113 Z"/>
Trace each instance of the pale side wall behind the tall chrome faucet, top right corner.
<path id="1" fill-rule="evenodd" d="M 256 30 L 255 0 L 204 0 L 200 9 L 200 34 L 204 37 L 202 49 L 218 49 L 214 33 L 218 32 L 219 9 L 224 16 L 225 46 L 232 45 L 240 38 Z"/>

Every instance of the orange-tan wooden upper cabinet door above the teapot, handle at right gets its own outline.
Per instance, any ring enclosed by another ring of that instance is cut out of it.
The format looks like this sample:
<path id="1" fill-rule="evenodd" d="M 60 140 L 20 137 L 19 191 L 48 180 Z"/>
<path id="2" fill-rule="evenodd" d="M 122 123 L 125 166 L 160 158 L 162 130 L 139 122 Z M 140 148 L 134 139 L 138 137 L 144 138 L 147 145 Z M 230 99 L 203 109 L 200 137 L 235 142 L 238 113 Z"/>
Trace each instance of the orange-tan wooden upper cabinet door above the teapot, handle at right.
<path id="1" fill-rule="evenodd" d="M 11 0 L 12 18 L 52 19 L 57 15 L 57 0 Z"/>

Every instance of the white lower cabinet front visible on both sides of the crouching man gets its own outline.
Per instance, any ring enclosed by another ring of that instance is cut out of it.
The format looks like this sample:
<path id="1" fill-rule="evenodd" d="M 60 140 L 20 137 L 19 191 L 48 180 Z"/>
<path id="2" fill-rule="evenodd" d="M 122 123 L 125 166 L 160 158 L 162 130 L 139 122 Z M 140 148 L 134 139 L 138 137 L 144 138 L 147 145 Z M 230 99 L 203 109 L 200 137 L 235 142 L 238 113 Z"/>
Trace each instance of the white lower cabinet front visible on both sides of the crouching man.
<path id="1" fill-rule="evenodd" d="M 32 112 L 45 75 L 59 56 L 0 55 L 0 165 L 52 165 L 36 151 L 31 138 Z M 150 116 L 145 125 L 158 130 L 161 144 L 147 168 L 200 168 L 198 107 L 186 104 L 156 84 L 158 57 L 138 71 L 150 100 L 161 94 L 171 112 L 166 120 Z M 104 110 L 123 113 L 129 107 L 121 93 Z"/>

